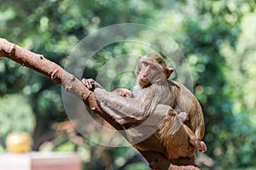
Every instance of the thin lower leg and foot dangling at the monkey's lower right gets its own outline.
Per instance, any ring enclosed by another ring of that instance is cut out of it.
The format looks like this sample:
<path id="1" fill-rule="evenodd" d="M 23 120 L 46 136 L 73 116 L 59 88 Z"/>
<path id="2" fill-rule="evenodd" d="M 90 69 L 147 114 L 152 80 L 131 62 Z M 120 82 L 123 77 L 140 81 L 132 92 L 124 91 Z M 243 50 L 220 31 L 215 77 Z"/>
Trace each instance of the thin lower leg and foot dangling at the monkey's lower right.
<path id="1" fill-rule="evenodd" d="M 183 127 L 186 133 L 188 133 L 189 135 L 189 143 L 193 144 L 195 148 L 198 148 L 198 150 L 200 150 L 201 152 L 207 151 L 207 145 L 203 141 L 197 139 L 195 134 L 187 125 L 183 124 Z"/>

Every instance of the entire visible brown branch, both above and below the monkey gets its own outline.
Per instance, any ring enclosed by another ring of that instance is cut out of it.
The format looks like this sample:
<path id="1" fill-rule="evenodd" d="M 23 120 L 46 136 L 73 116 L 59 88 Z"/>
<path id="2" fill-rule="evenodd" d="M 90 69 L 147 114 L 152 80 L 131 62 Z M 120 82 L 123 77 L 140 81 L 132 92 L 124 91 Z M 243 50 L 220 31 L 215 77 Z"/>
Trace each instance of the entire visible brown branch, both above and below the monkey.
<path id="1" fill-rule="evenodd" d="M 12 59 L 20 65 L 31 68 L 34 71 L 38 71 L 45 77 L 49 77 L 49 79 L 53 80 L 57 84 L 61 84 L 68 93 L 82 99 L 84 101 L 84 105 L 87 105 L 91 111 L 102 116 L 105 121 L 110 123 L 117 130 L 122 130 L 122 126 L 120 126 L 118 122 L 114 122 L 108 114 L 101 110 L 96 102 L 94 93 L 92 93 L 88 88 L 85 88 L 84 84 L 79 81 L 79 79 L 62 69 L 60 65 L 56 65 L 54 62 L 45 59 L 44 55 L 32 53 L 25 48 L 21 48 L 14 43 L 0 38 L 0 58 L 1 57 Z M 177 162 L 173 162 L 167 160 L 166 157 L 162 156 L 160 153 L 153 151 L 139 151 L 148 161 L 149 167 L 152 169 L 200 169 L 193 165 L 189 160 L 178 160 Z"/>

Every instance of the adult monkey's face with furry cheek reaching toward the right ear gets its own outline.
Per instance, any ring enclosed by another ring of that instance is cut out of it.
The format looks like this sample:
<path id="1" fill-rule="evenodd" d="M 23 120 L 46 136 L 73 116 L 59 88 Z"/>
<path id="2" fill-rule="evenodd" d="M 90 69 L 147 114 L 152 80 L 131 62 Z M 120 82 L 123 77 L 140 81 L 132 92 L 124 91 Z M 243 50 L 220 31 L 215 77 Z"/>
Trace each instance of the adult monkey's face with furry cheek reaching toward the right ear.
<path id="1" fill-rule="evenodd" d="M 165 75 L 160 71 L 157 65 L 151 64 L 147 61 L 143 61 L 141 63 L 140 71 L 137 75 L 137 82 L 142 88 L 150 86 L 150 84 L 154 83 L 160 77 L 165 79 Z"/>

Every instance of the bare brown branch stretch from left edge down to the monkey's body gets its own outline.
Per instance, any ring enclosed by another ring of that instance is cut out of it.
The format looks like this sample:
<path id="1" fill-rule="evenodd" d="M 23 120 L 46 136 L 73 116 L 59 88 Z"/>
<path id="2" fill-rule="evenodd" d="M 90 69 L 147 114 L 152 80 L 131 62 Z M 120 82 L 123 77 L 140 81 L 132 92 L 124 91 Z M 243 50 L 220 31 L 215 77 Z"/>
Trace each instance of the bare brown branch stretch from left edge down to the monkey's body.
<path id="1" fill-rule="evenodd" d="M 61 84 L 68 93 L 83 99 L 84 104 L 87 105 L 90 110 L 102 116 L 104 120 L 109 122 L 116 129 L 122 130 L 122 127 L 117 122 L 113 122 L 111 117 L 104 114 L 96 102 L 94 93 L 86 88 L 83 82 L 62 69 L 60 65 L 56 65 L 54 62 L 45 59 L 44 55 L 34 54 L 25 48 L 20 48 L 20 46 L 0 38 L 0 57 L 12 59 L 20 65 L 31 68 L 32 70 L 38 71 L 44 76 L 49 77 L 49 79 L 57 84 Z"/>

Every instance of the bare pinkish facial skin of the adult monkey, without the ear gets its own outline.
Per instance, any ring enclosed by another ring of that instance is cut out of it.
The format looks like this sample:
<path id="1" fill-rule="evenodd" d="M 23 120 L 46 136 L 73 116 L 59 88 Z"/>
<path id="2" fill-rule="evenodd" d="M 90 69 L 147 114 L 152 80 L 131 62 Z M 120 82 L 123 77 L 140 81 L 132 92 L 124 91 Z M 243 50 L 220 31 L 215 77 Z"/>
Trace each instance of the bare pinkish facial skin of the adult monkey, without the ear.
<path id="1" fill-rule="evenodd" d="M 160 71 L 156 65 L 152 65 L 146 61 L 143 61 L 141 71 L 137 76 L 137 82 L 142 88 L 144 88 L 150 84 L 150 80 L 152 80 L 154 76 L 159 74 L 159 72 Z"/>

